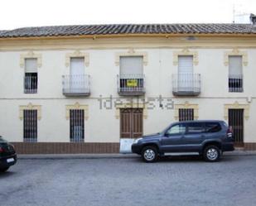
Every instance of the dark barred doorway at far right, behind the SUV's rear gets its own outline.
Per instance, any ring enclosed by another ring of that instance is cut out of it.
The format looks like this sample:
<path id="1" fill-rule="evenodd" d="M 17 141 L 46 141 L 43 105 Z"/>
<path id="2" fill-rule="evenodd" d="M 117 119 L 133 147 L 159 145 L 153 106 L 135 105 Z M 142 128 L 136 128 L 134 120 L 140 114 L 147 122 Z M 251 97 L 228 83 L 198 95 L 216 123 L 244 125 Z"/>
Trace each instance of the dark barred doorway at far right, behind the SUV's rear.
<path id="1" fill-rule="evenodd" d="M 244 146 L 244 109 L 229 109 L 229 126 L 233 128 L 234 144 Z"/>

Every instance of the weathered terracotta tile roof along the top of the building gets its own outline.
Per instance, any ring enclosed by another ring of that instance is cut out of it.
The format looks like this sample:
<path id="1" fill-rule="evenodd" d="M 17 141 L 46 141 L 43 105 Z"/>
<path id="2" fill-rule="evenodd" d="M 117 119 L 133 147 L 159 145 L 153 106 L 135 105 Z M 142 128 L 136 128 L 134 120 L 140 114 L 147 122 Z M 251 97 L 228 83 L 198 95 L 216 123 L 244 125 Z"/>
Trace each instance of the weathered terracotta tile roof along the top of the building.
<path id="1" fill-rule="evenodd" d="M 256 34 L 250 24 L 112 24 L 24 27 L 0 31 L 0 38 L 118 34 Z"/>

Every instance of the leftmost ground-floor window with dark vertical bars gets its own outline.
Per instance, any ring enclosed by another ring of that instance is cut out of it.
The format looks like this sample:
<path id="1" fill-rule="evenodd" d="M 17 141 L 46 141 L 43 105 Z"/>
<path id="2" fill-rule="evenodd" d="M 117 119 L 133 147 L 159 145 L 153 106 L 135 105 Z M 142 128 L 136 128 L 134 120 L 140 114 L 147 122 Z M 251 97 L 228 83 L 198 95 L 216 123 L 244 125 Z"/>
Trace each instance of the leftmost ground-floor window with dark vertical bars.
<path id="1" fill-rule="evenodd" d="M 37 141 L 37 110 L 23 110 L 23 139 L 28 142 Z"/>

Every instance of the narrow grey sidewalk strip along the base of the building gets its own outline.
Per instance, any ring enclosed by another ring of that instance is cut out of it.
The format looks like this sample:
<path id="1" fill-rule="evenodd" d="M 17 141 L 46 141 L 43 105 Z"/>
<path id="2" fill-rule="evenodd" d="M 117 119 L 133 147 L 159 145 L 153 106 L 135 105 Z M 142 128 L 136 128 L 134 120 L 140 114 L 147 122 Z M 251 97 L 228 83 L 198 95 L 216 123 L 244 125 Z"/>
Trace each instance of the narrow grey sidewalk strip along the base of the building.
<path id="1" fill-rule="evenodd" d="M 229 151 L 224 156 L 256 156 L 256 151 Z M 135 154 L 46 154 L 18 155 L 18 159 L 124 159 L 138 158 Z"/>

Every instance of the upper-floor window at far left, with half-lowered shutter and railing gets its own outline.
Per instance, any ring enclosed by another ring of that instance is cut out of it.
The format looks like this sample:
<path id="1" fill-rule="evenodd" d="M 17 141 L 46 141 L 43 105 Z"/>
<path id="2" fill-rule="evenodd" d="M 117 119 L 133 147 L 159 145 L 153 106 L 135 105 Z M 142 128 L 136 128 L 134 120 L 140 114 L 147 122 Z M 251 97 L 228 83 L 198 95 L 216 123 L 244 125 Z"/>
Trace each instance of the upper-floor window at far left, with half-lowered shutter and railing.
<path id="1" fill-rule="evenodd" d="M 24 93 L 37 93 L 37 59 L 25 60 Z"/>

